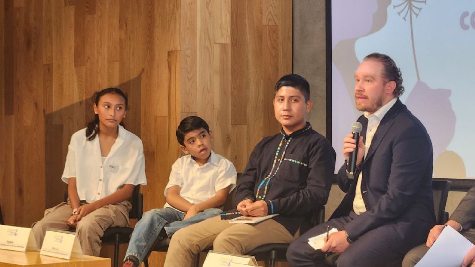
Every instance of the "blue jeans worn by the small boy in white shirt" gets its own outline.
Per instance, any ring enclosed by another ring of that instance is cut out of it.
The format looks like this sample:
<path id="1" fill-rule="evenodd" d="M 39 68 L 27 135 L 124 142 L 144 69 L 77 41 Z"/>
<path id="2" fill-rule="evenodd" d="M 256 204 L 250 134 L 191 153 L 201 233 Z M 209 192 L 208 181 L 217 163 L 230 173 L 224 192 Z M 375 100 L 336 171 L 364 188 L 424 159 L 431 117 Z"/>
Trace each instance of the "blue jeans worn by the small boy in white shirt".
<path id="1" fill-rule="evenodd" d="M 125 258 L 132 255 L 142 263 L 162 229 L 165 229 L 168 237 L 172 237 L 179 229 L 217 216 L 222 212 L 220 209 L 207 209 L 187 220 L 183 220 L 185 213 L 172 208 L 149 210 L 143 214 L 142 219 L 135 225 Z"/>

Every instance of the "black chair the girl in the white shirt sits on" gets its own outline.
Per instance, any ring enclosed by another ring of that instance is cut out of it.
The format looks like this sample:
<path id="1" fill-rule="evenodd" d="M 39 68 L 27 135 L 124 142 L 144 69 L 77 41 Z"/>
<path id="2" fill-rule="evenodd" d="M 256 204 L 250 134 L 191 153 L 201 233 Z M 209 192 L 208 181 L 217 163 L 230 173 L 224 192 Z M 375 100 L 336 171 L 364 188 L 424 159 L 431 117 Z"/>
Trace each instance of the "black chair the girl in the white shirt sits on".
<path id="1" fill-rule="evenodd" d="M 67 202 L 68 192 L 64 195 Z M 143 194 L 140 192 L 140 185 L 135 186 L 130 202 L 132 209 L 129 211 L 129 218 L 140 220 L 143 214 Z M 100 239 L 103 245 L 114 245 L 114 267 L 119 266 L 119 245 L 129 243 L 133 231 L 131 227 L 109 227 Z"/>

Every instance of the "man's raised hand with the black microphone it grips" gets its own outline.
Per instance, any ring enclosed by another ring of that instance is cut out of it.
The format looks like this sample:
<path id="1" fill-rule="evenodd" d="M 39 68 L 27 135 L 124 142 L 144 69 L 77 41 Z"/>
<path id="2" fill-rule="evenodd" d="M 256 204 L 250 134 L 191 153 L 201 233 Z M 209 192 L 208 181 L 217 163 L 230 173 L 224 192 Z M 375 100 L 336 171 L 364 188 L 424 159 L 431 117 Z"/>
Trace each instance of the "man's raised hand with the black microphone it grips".
<path id="1" fill-rule="evenodd" d="M 348 171 L 348 178 L 354 179 L 357 166 L 361 163 L 363 155 L 365 154 L 365 145 L 363 144 L 363 137 L 360 132 L 363 126 L 359 122 L 351 124 L 351 134 L 346 135 L 343 140 L 343 154 L 345 156 Z M 356 149 L 356 141 L 358 140 L 358 149 Z"/>

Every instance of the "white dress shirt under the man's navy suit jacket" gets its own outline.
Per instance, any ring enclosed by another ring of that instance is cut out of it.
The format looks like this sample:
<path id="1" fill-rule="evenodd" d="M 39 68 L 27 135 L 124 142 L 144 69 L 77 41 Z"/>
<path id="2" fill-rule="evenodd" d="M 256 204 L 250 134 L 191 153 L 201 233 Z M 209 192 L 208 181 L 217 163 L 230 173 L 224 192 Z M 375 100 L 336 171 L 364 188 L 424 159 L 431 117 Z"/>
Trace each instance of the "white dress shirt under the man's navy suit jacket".
<path id="1" fill-rule="evenodd" d="M 369 114 L 368 112 L 364 113 L 364 116 L 368 119 L 368 127 L 366 128 L 366 141 L 365 141 L 365 158 L 368 154 L 368 150 L 370 149 L 371 141 L 373 140 L 373 136 L 375 135 L 376 129 L 380 125 L 380 122 L 384 115 L 392 108 L 392 106 L 396 103 L 397 97 L 394 97 L 391 101 L 387 104 L 382 106 L 380 109 L 375 111 L 373 114 Z M 363 178 L 363 171 L 360 172 L 358 176 L 358 181 L 356 182 L 356 192 L 355 192 L 355 199 L 353 200 L 353 211 L 356 214 L 362 214 L 366 211 L 365 202 L 363 201 L 363 195 L 361 194 L 361 180 Z"/>

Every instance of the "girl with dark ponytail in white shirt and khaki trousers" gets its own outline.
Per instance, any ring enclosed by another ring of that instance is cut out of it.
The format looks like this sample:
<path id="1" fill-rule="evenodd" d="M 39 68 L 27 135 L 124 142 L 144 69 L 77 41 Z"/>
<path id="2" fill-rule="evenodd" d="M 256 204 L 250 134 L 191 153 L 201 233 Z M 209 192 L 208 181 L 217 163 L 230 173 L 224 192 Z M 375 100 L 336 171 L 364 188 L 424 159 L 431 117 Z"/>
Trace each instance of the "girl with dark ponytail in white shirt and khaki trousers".
<path id="1" fill-rule="evenodd" d="M 61 179 L 69 201 L 47 209 L 32 227 L 38 246 L 47 228 L 76 228 L 83 254 L 99 256 L 104 231 L 129 225 L 128 199 L 146 177 L 142 141 L 121 125 L 127 95 L 107 88 L 93 97 L 95 118 L 72 135 L 68 147 Z"/>

